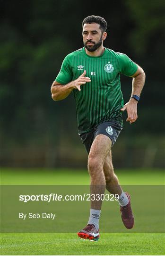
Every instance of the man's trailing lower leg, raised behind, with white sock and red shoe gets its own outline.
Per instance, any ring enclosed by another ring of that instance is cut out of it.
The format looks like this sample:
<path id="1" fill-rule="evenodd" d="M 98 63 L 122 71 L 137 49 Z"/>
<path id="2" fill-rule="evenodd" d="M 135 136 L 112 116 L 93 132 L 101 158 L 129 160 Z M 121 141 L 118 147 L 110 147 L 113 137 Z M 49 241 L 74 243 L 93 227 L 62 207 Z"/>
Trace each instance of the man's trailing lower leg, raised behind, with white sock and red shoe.
<path id="1" fill-rule="evenodd" d="M 122 222 L 127 229 L 132 229 L 134 225 L 134 217 L 130 206 L 130 195 L 122 191 L 118 178 L 114 174 L 111 152 L 109 155 L 107 155 L 104 161 L 103 170 L 106 181 L 106 189 L 112 194 L 119 195 Z"/>

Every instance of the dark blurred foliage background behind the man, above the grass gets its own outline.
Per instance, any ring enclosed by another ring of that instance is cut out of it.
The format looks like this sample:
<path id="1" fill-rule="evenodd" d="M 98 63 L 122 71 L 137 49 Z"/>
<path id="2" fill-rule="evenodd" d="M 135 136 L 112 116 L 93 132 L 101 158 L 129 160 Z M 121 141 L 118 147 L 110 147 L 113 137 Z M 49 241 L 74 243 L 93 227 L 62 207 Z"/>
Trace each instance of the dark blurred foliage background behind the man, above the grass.
<path id="1" fill-rule="evenodd" d="M 0 144 L 3 166 L 86 166 L 72 95 L 50 87 L 63 58 L 83 46 L 82 20 L 108 23 L 104 46 L 143 67 L 146 85 L 135 124 L 113 147 L 117 167 L 164 165 L 164 0 L 0 0 Z M 124 101 L 131 79 L 121 77 Z"/>

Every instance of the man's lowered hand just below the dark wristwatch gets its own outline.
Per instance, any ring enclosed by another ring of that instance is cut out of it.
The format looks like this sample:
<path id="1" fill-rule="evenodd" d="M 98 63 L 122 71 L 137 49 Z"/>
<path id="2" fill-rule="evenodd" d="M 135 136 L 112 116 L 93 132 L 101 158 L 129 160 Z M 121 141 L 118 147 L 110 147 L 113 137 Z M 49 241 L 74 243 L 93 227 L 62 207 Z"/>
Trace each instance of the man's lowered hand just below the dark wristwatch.
<path id="1" fill-rule="evenodd" d="M 138 118 L 137 114 L 137 103 L 135 99 L 131 98 L 129 102 L 127 102 L 124 107 L 121 109 L 121 111 L 127 110 L 128 118 L 126 119 L 127 122 L 130 122 L 130 124 L 134 123 L 136 119 Z"/>

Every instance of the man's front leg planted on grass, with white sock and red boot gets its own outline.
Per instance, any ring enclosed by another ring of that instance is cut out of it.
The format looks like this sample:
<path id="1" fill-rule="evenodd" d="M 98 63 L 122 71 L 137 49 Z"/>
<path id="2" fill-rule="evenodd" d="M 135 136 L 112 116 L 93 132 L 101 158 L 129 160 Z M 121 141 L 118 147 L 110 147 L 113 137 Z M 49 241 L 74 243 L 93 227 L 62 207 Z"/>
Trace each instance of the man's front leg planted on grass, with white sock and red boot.
<path id="1" fill-rule="evenodd" d="M 106 184 L 103 165 L 111 146 L 111 139 L 103 134 L 97 135 L 91 146 L 88 155 L 88 171 L 91 177 L 91 210 L 87 227 L 78 232 L 80 238 L 91 240 L 99 238 L 98 222 L 102 205 L 101 194 L 104 194 Z"/>

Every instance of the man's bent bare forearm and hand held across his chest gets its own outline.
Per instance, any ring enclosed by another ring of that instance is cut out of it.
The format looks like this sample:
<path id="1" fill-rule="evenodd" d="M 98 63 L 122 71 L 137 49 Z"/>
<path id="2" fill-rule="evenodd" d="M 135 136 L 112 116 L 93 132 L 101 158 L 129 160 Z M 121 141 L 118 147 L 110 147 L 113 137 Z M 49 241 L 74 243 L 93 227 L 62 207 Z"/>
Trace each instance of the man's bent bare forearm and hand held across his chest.
<path id="1" fill-rule="evenodd" d="M 60 84 L 56 81 L 52 83 L 51 92 L 53 101 L 61 101 L 68 97 L 73 89 L 78 89 L 81 91 L 80 86 L 86 84 L 86 82 L 91 82 L 89 77 L 86 77 L 86 70 L 82 73 L 78 79 L 67 83 L 66 85 Z"/>

